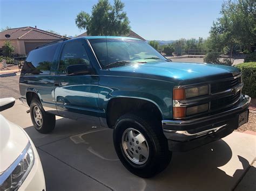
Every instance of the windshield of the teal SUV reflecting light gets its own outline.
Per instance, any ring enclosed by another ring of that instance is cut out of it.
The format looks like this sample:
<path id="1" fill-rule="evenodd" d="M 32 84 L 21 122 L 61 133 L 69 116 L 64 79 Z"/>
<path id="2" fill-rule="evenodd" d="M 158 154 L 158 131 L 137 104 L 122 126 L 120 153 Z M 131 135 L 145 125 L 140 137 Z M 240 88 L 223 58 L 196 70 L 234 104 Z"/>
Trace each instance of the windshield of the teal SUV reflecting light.
<path id="1" fill-rule="evenodd" d="M 93 39 L 90 44 L 103 68 L 122 66 L 127 63 L 145 63 L 159 60 L 168 61 L 142 40 Z M 114 65 L 113 63 L 117 63 Z M 122 65 L 120 65 L 122 63 Z"/>

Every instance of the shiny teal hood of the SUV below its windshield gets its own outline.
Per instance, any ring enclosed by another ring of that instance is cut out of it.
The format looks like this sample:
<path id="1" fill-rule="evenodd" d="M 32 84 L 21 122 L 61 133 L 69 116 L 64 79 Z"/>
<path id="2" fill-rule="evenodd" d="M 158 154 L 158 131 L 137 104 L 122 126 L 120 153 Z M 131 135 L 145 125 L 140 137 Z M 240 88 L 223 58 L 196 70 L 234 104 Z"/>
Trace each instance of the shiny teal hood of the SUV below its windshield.
<path id="1" fill-rule="evenodd" d="M 177 80 L 191 80 L 206 76 L 229 75 L 240 73 L 236 67 L 214 65 L 208 63 L 186 63 L 186 62 L 149 62 L 144 64 L 133 64 L 122 67 L 110 68 L 111 71 L 132 72 L 141 74 L 171 77 Z"/>

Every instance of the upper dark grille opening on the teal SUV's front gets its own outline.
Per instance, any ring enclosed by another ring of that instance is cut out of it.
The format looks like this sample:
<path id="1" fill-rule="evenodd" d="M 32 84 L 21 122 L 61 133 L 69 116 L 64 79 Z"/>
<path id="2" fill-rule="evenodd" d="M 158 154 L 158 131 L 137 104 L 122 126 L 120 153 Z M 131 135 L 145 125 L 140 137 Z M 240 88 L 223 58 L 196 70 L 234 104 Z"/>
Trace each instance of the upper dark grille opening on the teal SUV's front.
<path id="1" fill-rule="evenodd" d="M 220 82 L 212 82 L 211 83 L 211 94 L 215 94 L 221 91 L 225 91 L 227 89 L 234 88 L 240 83 L 240 78 L 237 77 L 233 80 L 226 80 L 226 81 L 220 81 Z"/>

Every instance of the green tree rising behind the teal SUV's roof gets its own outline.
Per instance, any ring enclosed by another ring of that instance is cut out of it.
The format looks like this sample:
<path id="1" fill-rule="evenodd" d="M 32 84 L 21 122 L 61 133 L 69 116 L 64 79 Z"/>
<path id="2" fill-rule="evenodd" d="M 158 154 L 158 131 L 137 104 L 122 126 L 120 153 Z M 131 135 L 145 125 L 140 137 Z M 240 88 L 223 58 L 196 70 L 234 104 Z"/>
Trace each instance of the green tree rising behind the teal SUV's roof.
<path id="1" fill-rule="evenodd" d="M 78 13 L 76 25 L 91 36 L 125 35 L 130 30 L 130 21 L 123 9 L 124 3 L 120 0 L 114 0 L 113 5 L 108 0 L 99 0 L 92 6 L 91 15 L 84 11 Z"/>

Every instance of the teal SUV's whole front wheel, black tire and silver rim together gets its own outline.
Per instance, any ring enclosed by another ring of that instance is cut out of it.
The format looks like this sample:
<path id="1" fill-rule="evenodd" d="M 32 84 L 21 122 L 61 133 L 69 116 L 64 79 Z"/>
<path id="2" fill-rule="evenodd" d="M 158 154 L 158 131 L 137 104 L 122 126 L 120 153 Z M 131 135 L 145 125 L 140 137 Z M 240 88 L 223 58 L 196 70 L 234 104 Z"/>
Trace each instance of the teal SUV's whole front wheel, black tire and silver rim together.
<path id="1" fill-rule="evenodd" d="M 127 114 L 114 126 L 113 142 L 123 165 L 133 174 L 150 178 L 171 161 L 167 139 L 149 118 Z"/>

